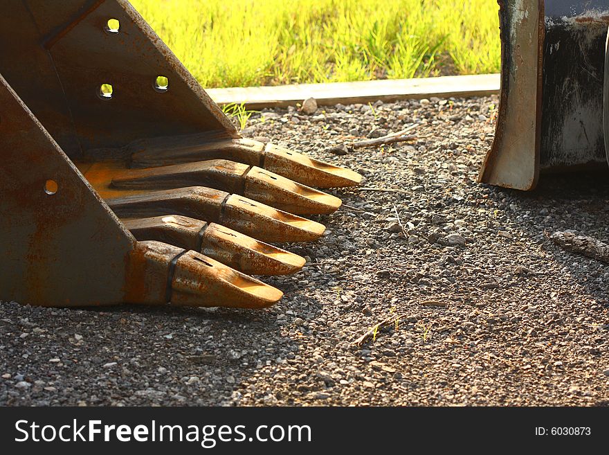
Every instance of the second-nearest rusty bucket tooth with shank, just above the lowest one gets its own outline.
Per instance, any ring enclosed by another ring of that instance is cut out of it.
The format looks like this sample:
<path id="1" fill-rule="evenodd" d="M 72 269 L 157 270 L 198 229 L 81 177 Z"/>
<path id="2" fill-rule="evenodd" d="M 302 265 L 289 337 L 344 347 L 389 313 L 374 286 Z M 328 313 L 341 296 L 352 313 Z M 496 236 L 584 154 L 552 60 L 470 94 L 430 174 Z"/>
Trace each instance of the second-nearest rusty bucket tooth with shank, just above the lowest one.
<path id="1" fill-rule="evenodd" d="M 179 215 L 123 220 L 137 240 L 158 240 L 199 251 L 245 274 L 287 275 L 302 269 L 305 258 L 219 224 Z"/>

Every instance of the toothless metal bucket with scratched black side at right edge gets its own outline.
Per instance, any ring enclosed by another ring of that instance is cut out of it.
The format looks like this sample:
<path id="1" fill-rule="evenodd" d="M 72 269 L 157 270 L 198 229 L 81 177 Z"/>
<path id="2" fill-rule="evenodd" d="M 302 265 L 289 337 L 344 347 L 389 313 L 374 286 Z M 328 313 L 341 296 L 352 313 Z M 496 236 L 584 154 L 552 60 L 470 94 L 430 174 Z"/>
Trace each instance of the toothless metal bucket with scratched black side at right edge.
<path id="1" fill-rule="evenodd" d="M 499 5 L 500 106 L 480 181 L 532 190 L 541 171 L 606 168 L 609 0 Z"/>

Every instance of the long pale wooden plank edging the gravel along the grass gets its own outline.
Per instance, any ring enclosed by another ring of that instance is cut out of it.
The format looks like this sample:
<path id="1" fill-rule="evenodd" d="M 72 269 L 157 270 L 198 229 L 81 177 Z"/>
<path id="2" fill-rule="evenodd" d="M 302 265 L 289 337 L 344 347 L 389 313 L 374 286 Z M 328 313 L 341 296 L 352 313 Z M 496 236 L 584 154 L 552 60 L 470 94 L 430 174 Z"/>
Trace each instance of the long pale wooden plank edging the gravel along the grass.
<path id="1" fill-rule="evenodd" d="M 278 87 L 232 87 L 208 89 L 219 105 L 241 104 L 248 109 L 287 107 L 307 98 L 315 98 L 318 105 L 385 102 L 438 98 L 488 96 L 498 94 L 499 74 L 443 76 L 440 78 L 368 80 L 363 82 L 334 82 L 331 84 L 295 84 Z"/>

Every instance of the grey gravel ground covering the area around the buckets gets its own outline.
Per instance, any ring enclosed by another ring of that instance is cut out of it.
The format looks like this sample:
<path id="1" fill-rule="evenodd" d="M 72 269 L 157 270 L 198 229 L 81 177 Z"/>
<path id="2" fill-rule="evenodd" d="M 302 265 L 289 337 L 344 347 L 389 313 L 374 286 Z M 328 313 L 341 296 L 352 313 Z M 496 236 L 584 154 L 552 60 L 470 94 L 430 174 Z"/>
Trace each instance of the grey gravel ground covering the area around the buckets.
<path id="1" fill-rule="evenodd" d="M 269 310 L 1 304 L 0 404 L 609 404 L 609 266 L 548 240 L 569 229 L 608 239 L 609 181 L 544 175 L 532 193 L 478 184 L 497 104 L 255 114 L 246 136 L 397 191 L 334 192 L 346 205 L 318 219 L 327 235 L 289 245 L 305 269 L 266 279 L 286 292 Z M 416 144 L 328 151 L 411 123 Z"/>

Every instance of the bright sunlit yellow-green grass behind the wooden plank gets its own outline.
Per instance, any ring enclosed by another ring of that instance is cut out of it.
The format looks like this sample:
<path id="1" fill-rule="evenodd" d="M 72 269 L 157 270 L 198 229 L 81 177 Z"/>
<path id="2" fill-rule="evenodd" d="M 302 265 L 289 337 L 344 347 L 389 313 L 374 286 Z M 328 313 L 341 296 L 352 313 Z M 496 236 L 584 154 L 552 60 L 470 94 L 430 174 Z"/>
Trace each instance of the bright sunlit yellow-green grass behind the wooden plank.
<path id="1" fill-rule="evenodd" d="M 491 73 L 496 0 L 131 0 L 203 87 Z"/>

